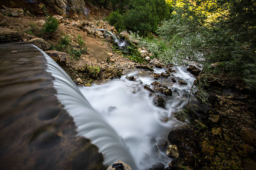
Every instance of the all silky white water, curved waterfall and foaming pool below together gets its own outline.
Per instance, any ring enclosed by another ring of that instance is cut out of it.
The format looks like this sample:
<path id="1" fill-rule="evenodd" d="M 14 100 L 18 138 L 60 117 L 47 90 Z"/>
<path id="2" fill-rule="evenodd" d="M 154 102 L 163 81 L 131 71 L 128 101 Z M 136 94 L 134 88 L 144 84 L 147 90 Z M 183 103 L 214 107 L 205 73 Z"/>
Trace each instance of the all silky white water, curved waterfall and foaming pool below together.
<path id="1" fill-rule="evenodd" d="M 158 163 L 168 165 L 171 159 L 165 150 L 157 150 L 155 145 L 157 139 L 166 139 L 169 131 L 174 129 L 173 124 L 177 122 L 174 112 L 187 105 L 195 77 L 186 67 L 174 67 L 173 77 L 177 81 L 184 80 L 187 85 L 172 84 L 172 76 L 159 80 L 173 91 L 172 97 L 163 95 L 166 100 L 164 109 L 153 105 L 152 97 L 148 97 L 149 92 L 143 88 L 155 81 L 144 74 L 146 71 L 128 74 L 136 77 L 136 81 L 126 79 L 124 75 L 120 80 L 111 80 L 104 85 L 78 89 L 67 73 L 42 53 L 47 60 L 46 71 L 55 78 L 53 83 L 58 100 L 74 118 L 78 135 L 97 145 L 105 165 L 117 160 L 128 163 L 133 170 L 150 168 Z M 161 73 L 165 70 L 155 68 L 154 71 Z"/>

